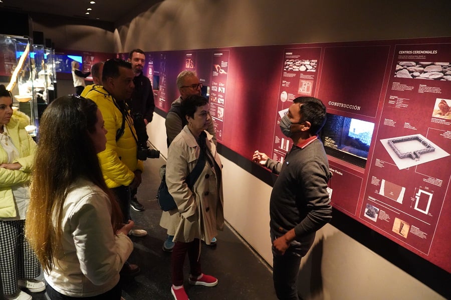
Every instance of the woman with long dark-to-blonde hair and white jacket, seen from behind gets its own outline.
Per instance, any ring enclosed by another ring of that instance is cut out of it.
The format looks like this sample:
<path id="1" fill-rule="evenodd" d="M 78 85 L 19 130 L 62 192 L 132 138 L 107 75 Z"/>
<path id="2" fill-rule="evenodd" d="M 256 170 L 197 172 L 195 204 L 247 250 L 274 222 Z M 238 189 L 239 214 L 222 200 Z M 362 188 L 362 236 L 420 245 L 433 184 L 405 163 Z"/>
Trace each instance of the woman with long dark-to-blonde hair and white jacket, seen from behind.
<path id="1" fill-rule="evenodd" d="M 133 244 L 102 176 L 106 129 L 97 105 L 72 95 L 44 111 L 26 236 L 55 299 L 121 298 L 119 271 Z"/>

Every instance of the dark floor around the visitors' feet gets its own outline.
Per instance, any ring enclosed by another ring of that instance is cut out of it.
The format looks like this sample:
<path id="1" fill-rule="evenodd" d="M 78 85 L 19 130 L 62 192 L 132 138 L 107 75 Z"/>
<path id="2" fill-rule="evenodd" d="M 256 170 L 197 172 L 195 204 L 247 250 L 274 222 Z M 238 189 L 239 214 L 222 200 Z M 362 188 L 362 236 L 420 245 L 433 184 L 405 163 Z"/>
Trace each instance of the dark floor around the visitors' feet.
<path id="1" fill-rule="evenodd" d="M 144 212 L 131 209 L 135 224 L 148 232 L 144 237 L 131 237 L 134 250 L 130 263 L 141 267 L 134 279 L 123 281 L 122 295 L 126 300 L 169 300 L 170 253 L 161 247 L 166 238 L 165 229 L 159 226 L 161 209 L 155 199 L 161 181 L 158 170 L 164 164 L 162 158 L 144 161 L 145 171 L 138 188 L 138 199 L 145 206 Z M 224 205 L 227 205 L 227 201 Z M 202 244 L 200 260 L 202 271 L 218 278 L 213 287 L 190 286 L 187 282 L 188 264 L 185 260 L 185 290 L 191 300 L 200 299 L 276 299 L 272 271 L 255 252 L 231 229 L 225 226 L 217 236 L 214 247 Z M 44 292 L 33 295 L 35 300 L 47 299 Z"/>

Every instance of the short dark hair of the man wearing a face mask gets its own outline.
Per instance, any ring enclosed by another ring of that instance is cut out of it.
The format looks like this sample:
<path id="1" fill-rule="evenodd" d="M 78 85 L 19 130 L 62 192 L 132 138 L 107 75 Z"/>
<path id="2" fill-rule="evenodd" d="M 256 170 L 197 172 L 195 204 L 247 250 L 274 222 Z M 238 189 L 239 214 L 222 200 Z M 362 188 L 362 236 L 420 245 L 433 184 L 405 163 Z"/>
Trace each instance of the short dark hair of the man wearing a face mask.
<path id="1" fill-rule="evenodd" d="M 303 121 L 309 121 L 310 133 L 318 134 L 326 123 L 326 106 L 315 97 L 297 97 L 294 103 L 302 103 L 300 113 Z"/>

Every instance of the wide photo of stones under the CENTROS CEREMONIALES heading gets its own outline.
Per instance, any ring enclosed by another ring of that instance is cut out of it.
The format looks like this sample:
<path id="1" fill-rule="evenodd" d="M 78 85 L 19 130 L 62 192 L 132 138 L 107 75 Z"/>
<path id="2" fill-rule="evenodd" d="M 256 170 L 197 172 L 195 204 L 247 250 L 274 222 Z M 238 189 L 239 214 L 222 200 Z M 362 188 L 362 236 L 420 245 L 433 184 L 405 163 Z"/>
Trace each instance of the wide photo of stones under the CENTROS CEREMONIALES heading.
<path id="1" fill-rule="evenodd" d="M 395 77 L 451 81 L 451 63 L 398 61 Z"/>

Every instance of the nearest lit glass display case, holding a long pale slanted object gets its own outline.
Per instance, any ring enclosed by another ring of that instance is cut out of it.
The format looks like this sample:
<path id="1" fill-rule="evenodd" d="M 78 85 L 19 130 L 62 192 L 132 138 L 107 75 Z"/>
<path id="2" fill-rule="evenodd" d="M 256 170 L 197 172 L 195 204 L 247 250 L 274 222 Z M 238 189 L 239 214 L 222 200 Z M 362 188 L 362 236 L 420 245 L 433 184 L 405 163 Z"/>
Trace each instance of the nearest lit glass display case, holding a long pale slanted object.
<path id="1" fill-rule="evenodd" d="M 32 136 L 39 123 L 36 54 L 28 36 L 0 34 L 0 82 L 13 94 L 13 105 L 30 117 Z"/>

